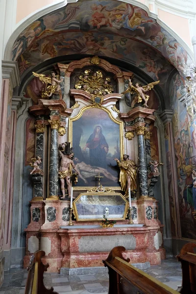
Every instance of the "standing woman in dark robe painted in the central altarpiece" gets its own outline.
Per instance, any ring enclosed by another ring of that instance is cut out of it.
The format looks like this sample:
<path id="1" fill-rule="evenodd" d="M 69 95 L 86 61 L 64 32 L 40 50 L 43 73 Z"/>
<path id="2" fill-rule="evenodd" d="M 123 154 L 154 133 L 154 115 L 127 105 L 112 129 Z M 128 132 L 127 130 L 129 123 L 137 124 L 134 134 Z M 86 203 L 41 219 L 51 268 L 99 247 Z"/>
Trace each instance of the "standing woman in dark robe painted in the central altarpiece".
<path id="1" fill-rule="evenodd" d="M 106 155 L 108 153 L 109 147 L 104 135 L 102 134 L 102 128 L 100 125 L 95 127 L 93 134 L 90 135 L 83 150 L 85 151 L 86 148 L 89 148 L 91 166 L 106 169 Z"/>

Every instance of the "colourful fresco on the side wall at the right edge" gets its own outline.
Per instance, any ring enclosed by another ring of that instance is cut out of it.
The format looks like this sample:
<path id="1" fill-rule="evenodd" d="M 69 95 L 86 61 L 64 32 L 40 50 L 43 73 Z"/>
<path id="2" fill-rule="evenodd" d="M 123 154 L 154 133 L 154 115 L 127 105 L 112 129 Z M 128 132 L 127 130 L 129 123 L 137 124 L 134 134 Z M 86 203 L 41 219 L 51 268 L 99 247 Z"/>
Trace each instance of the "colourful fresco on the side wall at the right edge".
<path id="1" fill-rule="evenodd" d="M 192 169 L 196 169 L 196 117 L 191 121 L 183 103 L 176 101 L 172 119 L 176 157 L 178 202 L 183 238 L 196 240 L 196 220 L 193 203 L 187 195 L 192 184 Z"/>

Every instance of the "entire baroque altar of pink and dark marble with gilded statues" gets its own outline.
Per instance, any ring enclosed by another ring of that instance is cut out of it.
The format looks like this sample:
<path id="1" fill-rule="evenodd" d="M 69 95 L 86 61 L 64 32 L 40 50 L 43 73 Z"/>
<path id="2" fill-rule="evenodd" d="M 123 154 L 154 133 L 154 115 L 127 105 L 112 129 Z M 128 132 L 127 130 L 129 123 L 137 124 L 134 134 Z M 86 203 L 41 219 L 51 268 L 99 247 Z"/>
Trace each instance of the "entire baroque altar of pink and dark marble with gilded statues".
<path id="1" fill-rule="evenodd" d="M 165 249 L 153 189 L 160 172 L 147 105 L 158 82 L 133 86 L 133 73 L 98 56 L 57 66 L 50 77 L 33 73 L 45 86 L 29 107 L 36 148 L 24 267 L 41 249 L 51 272 L 102 272 L 102 259 L 119 245 L 131 264 L 159 265 Z M 100 226 L 103 215 L 114 227 Z"/>

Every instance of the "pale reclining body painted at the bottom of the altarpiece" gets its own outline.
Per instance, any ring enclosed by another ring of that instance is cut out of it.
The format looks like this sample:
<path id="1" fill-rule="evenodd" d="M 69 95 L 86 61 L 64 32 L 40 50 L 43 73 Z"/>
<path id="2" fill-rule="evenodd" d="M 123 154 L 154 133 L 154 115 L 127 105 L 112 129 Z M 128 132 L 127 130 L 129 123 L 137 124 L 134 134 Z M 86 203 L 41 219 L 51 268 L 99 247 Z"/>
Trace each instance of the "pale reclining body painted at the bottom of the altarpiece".
<path id="1" fill-rule="evenodd" d="M 113 176 L 110 172 L 108 172 L 106 169 L 100 168 L 100 167 L 94 167 L 91 165 L 86 164 L 84 161 L 80 161 L 77 157 L 74 158 L 75 162 L 75 171 L 79 173 L 79 177 L 85 182 L 85 184 L 88 184 L 87 178 L 93 177 L 99 172 L 102 173 L 106 178 L 117 182 L 118 178 Z"/>

